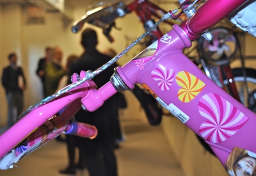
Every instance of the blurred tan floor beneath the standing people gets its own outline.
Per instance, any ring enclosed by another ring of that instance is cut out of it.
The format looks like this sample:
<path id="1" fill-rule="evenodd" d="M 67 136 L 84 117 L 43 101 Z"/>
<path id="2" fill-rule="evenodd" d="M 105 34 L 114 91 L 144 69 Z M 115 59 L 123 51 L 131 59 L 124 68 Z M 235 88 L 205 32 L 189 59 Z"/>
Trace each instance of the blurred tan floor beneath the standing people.
<path id="1" fill-rule="evenodd" d="M 145 122 L 123 122 L 125 142 L 116 150 L 119 176 L 179 175 L 183 176 L 160 126 Z M 65 143 L 51 141 L 25 157 L 17 168 L 0 170 L 0 175 L 61 175 L 58 170 L 67 166 Z M 86 170 L 76 175 L 89 176 Z"/>

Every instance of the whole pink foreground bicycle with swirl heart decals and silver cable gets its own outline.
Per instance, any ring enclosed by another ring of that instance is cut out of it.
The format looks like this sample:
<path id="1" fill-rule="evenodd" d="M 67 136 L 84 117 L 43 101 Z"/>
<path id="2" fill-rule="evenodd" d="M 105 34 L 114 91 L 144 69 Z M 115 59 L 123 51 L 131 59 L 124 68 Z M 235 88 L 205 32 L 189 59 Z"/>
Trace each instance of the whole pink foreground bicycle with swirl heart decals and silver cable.
<path id="1" fill-rule="evenodd" d="M 97 90 L 90 79 L 114 63 L 164 19 L 177 19 L 182 12 L 178 15 L 175 15 L 177 10 L 166 13 L 109 63 L 94 72 L 74 74 L 72 84 L 20 115 L 19 122 L 0 136 L 0 168 L 12 168 L 20 158 L 62 132 L 93 138 L 97 134 L 95 127 L 68 122 L 71 116 L 81 106 L 94 111 L 116 92 L 132 90 L 134 84 L 140 83 L 164 108 L 204 138 L 230 175 L 254 175 L 255 114 L 205 76 L 182 49 L 191 47 L 191 42 L 200 35 L 210 40 L 209 29 L 225 17 L 230 17 L 236 26 L 241 25 L 253 35 L 255 25 L 250 17 L 253 17 L 255 3 L 245 0 L 179 2 L 180 9 L 189 19 L 180 26 L 175 24 L 171 31 L 129 63 L 117 67 L 104 86 Z M 65 110 L 59 117 L 54 116 L 63 108 Z"/>

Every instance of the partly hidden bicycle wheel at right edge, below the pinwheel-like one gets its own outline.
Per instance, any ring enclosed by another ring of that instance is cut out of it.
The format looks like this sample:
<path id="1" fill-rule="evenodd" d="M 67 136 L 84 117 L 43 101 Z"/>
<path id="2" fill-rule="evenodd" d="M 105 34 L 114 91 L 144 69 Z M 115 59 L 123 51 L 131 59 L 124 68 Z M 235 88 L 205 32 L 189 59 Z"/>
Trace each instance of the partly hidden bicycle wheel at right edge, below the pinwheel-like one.
<path id="1" fill-rule="evenodd" d="M 233 68 L 232 74 L 241 103 L 251 111 L 256 112 L 256 70 L 253 68 L 245 68 L 245 70 L 248 93 L 244 84 L 243 68 Z M 223 83 L 227 86 L 228 80 L 224 80 Z"/>

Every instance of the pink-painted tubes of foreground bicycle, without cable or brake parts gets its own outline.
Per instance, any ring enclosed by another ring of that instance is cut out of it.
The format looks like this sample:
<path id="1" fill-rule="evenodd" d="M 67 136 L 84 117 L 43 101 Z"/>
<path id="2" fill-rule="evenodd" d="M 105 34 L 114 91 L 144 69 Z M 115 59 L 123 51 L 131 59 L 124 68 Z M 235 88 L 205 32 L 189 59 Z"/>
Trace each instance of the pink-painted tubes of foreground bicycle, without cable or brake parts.
<path id="1" fill-rule="evenodd" d="M 191 42 L 198 36 L 244 2 L 245 0 L 207 1 L 193 17 L 180 26 L 175 24 L 171 31 L 129 63 L 117 67 L 114 76 L 126 90 L 131 90 L 134 84 L 140 83 L 164 108 L 204 138 L 225 167 L 235 147 L 256 153 L 255 114 L 205 76 L 182 53 L 182 49 L 191 47 Z M 67 95 L 35 109 L 12 127 L 20 129 L 18 132 L 11 128 L 10 132 L 0 136 L 0 158 L 36 127 L 44 124 L 49 116 L 73 100 L 81 98 L 88 111 L 95 111 L 117 90 L 120 89 L 113 79 L 99 90 L 86 82 Z M 73 113 L 76 111 L 77 108 Z M 9 140 L 11 136 L 12 140 Z"/>

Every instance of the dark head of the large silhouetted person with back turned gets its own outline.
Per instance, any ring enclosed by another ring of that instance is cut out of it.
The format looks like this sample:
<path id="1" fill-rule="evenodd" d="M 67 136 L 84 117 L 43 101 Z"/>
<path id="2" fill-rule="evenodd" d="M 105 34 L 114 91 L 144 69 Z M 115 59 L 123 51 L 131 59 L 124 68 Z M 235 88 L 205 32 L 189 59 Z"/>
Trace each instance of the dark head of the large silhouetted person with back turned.
<path id="1" fill-rule="evenodd" d="M 84 29 L 81 35 L 81 45 L 84 49 L 95 48 L 98 44 L 97 33 L 91 28 Z"/>

